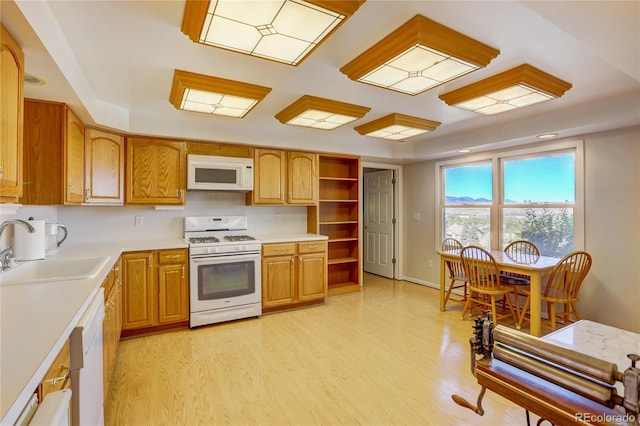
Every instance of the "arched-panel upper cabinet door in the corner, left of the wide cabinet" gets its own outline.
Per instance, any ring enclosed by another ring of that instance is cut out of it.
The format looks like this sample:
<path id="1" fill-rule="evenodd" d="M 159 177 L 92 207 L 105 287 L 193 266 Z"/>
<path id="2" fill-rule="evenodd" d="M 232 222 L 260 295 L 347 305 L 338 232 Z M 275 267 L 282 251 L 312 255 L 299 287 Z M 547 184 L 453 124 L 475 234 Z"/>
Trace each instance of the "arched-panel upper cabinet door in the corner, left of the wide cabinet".
<path id="1" fill-rule="evenodd" d="M 124 137 L 97 129 L 86 129 L 85 202 L 124 203 Z"/>

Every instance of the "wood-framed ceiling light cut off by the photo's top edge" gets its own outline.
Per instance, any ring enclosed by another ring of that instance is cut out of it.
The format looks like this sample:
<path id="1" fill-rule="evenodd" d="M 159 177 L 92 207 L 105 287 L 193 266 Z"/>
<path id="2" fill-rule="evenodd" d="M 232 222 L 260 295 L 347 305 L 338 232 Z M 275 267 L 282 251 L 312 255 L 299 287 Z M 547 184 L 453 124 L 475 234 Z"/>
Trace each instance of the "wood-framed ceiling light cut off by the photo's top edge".
<path id="1" fill-rule="evenodd" d="M 298 65 L 365 0 L 187 0 L 182 32 L 196 42 Z"/>

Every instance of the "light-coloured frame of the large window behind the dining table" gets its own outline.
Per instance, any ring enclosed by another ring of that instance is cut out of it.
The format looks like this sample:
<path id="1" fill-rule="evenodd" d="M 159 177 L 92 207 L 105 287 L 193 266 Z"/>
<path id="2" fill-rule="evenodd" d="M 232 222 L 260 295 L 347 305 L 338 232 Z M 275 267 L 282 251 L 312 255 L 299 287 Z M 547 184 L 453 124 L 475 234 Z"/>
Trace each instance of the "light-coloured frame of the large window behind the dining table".
<path id="1" fill-rule="evenodd" d="M 445 204 L 444 194 L 444 169 L 450 166 L 464 166 L 479 163 L 491 163 L 492 173 L 492 202 L 489 206 L 489 226 L 491 228 L 491 250 L 502 249 L 502 212 L 504 208 L 514 208 L 522 206 L 521 204 L 504 204 L 504 171 L 503 163 L 505 160 L 515 160 L 521 158 L 544 157 L 547 155 L 561 154 L 563 152 L 575 153 L 575 203 L 573 208 L 573 246 L 574 250 L 584 250 L 584 141 L 582 139 L 570 139 L 565 141 L 553 142 L 544 145 L 532 146 L 527 148 L 491 151 L 478 153 L 438 161 L 435 163 L 435 205 L 437 211 L 435 214 L 435 248 L 440 249 L 442 244 L 443 227 L 444 227 L 444 209 L 451 207 Z M 469 205 L 467 207 L 475 207 Z M 486 204 L 477 205 L 477 207 L 486 206 Z M 526 205 L 529 206 L 529 205 Z M 538 207 L 567 207 L 565 203 L 545 203 L 539 204 Z"/>

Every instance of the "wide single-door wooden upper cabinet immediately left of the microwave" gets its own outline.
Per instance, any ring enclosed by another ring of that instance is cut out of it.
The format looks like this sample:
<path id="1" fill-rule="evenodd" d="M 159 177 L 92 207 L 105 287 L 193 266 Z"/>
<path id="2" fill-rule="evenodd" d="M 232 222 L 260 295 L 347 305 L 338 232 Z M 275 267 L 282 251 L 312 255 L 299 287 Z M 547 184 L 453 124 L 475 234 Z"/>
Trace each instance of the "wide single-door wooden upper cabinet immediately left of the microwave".
<path id="1" fill-rule="evenodd" d="M 126 204 L 186 204 L 185 142 L 136 137 L 126 147 Z"/>

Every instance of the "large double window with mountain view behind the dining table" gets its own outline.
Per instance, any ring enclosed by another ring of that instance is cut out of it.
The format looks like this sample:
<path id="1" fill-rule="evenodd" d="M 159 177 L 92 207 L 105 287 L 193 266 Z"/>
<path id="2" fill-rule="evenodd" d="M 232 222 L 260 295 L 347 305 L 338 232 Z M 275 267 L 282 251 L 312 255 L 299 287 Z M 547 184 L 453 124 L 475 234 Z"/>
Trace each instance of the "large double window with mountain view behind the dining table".
<path id="1" fill-rule="evenodd" d="M 535 243 L 561 257 L 583 246 L 582 143 L 438 163 L 438 243 L 502 250 Z"/>

